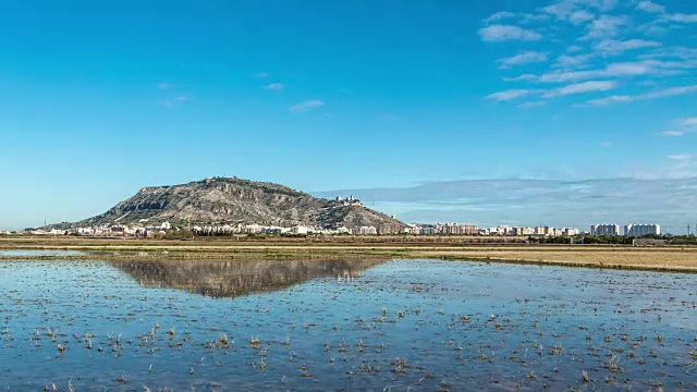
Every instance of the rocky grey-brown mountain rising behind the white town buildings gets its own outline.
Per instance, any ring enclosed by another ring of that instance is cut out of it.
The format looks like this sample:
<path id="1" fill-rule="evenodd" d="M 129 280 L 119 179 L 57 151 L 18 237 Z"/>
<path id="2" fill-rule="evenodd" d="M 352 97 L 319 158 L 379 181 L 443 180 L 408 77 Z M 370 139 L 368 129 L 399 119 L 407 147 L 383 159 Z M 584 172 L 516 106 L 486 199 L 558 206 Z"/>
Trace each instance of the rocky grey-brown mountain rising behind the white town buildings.
<path id="1" fill-rule="evenodd" d="M 215 177 L 174 186 L 144 187 L 107 212 L 76 225 L 132 224 L 306 225 L 322 229 L 375 226 L 399 230 L 404 223 L 357 200 L 328 200 L 290 187 L 236 177 Z"/>

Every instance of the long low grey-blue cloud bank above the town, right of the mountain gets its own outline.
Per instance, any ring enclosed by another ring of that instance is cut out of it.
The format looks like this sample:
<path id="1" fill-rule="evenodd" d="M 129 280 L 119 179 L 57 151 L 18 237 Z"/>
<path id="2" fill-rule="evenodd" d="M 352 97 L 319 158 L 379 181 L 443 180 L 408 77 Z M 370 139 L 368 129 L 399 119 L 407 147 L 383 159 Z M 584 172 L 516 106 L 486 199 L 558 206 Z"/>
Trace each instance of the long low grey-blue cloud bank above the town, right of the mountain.
<path id="1" fill-rule="evenodd" d="M 697 204 L 697 179 L 689 175 L 695 173 L 695 160 L 692 155 L 675 154 L 657 172 L 641 173 L 651 180 L 469 180 L 340 189 L 318 196 L 353 194 L 407 222 L 457 221 L 487 226 L 512 221 L 516 225 L 542 223 L 585 230 L 599 222 L 657 222 L 673 231 L 676 222 L 683 230 L 684 217 L 690 216 Z"/>

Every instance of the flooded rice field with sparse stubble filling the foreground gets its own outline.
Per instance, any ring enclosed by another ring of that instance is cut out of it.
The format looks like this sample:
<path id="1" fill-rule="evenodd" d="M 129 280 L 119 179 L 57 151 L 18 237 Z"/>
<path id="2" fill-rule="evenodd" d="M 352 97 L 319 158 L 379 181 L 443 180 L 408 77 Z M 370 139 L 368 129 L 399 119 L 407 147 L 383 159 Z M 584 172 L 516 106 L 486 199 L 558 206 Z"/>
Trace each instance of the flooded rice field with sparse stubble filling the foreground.
<path id="1" fill-rule="evenodd" d="M 0 262 L 5 391 L 695 390 L 697 277 L 433 260 Z"/>

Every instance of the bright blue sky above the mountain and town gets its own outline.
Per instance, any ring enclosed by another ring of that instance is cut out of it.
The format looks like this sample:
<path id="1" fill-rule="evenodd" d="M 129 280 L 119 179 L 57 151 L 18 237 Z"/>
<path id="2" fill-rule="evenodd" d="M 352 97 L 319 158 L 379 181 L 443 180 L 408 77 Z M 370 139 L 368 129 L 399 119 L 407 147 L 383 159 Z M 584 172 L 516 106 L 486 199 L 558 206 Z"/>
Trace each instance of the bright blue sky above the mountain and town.
<path id="1" fill-rule="evenodd" d="M 512 179 L 671 196 L 697 175 L 694 1 L 8 0 L 0 47 L 5 230 L 213 175 L 363 193 L 407 221 L 583 225 L 573 198 L 501 216 L 466 196 Z M 408 197 L 429 184 L 450 209 Z M 684 225 L 684 197 L 659 223 Z M 615 221 L 624 201 L 589 207 Z"/>

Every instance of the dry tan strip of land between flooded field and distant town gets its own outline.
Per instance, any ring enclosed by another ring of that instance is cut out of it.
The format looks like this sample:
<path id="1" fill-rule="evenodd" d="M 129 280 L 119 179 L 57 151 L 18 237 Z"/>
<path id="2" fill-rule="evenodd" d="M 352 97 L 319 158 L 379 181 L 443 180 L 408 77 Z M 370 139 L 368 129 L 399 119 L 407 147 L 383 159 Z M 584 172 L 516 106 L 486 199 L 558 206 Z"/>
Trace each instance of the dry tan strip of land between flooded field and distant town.
<path id="1" fill-rule="evenodd" d="M 320 243 L 280 241 L 135 241 L 82 238 L 0 238 L 0 249 L 77 250 L 84 256 L 46 259 L 418 259 L 477 260 L 588 268 L 697 272 L 697 247 L 603 245 L 472 245 L 453 243 Z M 25 259 L 37 257 L 26 256 Z M 0 260 L 17 259 L 2 256 Z"/>

